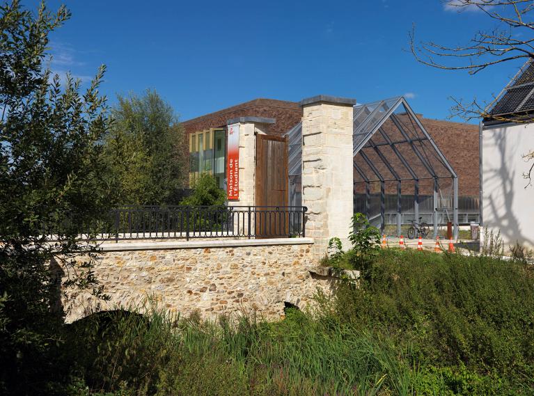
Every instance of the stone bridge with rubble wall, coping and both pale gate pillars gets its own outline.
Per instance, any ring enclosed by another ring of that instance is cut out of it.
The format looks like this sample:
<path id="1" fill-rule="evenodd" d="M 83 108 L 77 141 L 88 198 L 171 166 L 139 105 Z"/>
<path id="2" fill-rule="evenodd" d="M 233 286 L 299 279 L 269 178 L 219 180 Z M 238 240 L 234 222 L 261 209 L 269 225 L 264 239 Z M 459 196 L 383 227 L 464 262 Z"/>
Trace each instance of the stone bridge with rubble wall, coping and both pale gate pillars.
<path id="1" fill-rule="evenodd" d="M 331 290 L 329 276 L 314 270 L 331 237 L 349 246 L 353 212 L 352 99 L 319 95 L 301 102 L 302 205 L 308 207 L 303 235 L 311 238 L 143 241 L 107 243 L 95 275 L 111 296 L 95 301 L 69 292 L 68 321 L 94 310 L 139 306 L 147 297 L 162 307 L 204 317 L 239 311 L 267 318 L 283 315 L 285 304 L 305 308 L 317 287 Z M 239 199 L 228 205 L 256 205 L 256 137 L 265 119 L 239 124 Z"/>

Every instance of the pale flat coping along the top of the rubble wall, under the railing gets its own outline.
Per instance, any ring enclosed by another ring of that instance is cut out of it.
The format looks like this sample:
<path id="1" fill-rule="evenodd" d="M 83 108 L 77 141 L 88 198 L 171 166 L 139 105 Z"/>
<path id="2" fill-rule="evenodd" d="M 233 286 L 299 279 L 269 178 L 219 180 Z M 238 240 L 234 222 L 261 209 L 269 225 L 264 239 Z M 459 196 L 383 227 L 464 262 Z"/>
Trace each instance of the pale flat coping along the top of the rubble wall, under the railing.
<path id="1" fill-rule="evenodd" d="M 272 239 L 217 239 L 212 241 L 150 241 L 134 243 L 106 243 L 100 245 L 104 252 L 118 251 L 157 251 L 194 248 L 233 248 L 239 246 L 276 246 L 313 244 L 313 238 L 272 238 Z"/>

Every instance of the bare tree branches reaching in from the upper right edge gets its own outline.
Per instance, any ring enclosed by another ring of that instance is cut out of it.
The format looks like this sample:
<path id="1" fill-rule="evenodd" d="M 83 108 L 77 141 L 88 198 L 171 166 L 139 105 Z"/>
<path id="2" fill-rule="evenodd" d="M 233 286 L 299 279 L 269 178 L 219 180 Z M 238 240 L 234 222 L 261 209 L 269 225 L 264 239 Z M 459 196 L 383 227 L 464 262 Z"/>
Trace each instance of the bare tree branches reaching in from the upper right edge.
<path id="1" fill-rule="evenodd" d="M 498 22 L 495 29 L 478 31 L 466 45 L 449 47 L 436 42 L 416 42 L 415 26 L 409 32 L 409 45 L 416 61 L 423 65 L 441 70 L 466 70 L 477 74 L 499 63 L 518 59 L 534 60 L 534 1 L 533 0 L 443 0 L 444 8 L 462 13 L 474 10 Z M 531 113 L 513 113 L 498 116 L 489 113 L 498 97 L 488 104 L 481 104 L 475 99 L 464 102 L 451 98 L 455 103 L 451 109 L 452 116 L 464 120 L 478 118 L 519 123 L 534 122 Z M 523 155 L 525 161 L 534 161 L 534 150 Z M 523 176 L 532 186 L 534 164 Z"/>

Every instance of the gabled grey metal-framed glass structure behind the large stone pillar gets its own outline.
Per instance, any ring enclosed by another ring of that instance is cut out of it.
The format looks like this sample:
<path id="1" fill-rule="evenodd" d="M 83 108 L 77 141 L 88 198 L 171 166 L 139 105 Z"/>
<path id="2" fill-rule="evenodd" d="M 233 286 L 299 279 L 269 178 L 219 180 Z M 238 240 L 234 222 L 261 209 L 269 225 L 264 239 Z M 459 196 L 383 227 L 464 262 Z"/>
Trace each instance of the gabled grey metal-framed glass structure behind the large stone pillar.
<path id="1" fill-rule="evenodd" d="M 354 106 L 354 202 L 364 197 L 368 218 L 384 231 L 386 225 L 386 195 L 388 212 L 397 219 L 397 233 L 401 219 L 409 215 L 419 221 L 420 196 L 427 203 L 437 235 L 439 213 L 446 212 L 458 235 L 458 177 L 446 157 L 434 143 L 405 97 L 392 97 L 369 104 Z M 290 205 L 301 205 L 301 123 L 286 134 L 289 144 Z M 396 196 L 396 202 L 391 198 Z M 411 203 L 406 205 L 406 198 Z M 372 205 L 372 199 L 375 204 Z M 299 201 L 300 200 L 300 201 Z M 431 206 L 430 206 L 431 205 Z M 406 207 L 409 206 L 409 210 Z M 370 210 L 376 207 L 376 213 Z M 405 212 L 409 212 L 405 213 Z M 442 216 L 443 219 L 443 216 Z M 443 223 L 443 220 L 441 221 Z"/>

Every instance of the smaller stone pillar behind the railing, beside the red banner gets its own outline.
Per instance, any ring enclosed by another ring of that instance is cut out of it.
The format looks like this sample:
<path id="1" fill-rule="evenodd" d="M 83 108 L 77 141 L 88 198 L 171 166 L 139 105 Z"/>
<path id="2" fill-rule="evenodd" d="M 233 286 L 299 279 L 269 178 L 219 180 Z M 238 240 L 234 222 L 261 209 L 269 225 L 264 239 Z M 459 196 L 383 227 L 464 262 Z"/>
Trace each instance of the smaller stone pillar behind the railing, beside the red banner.
<path id="1" fill-rule="evenodd" d="M 239 124 L 239 199 L 229 200 L 228 206 L 256 205 L 256 135 L 267 134 L 267 128 L 274 122 L 274 118 L 262 117 L 237 117 L 227 121 L 228 125 Z M 237 221 L 235 219 L 235 226 Z M 242 223 L 243 219 L 240 221 Z M 252 219 L 252 227 L 253 223 Z M 245 229 L 240 228 L 240 232 L 248 233 L 247 224 L 248 219 L 245 219 Z"/>

